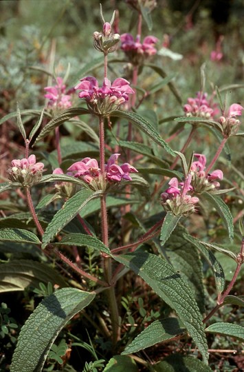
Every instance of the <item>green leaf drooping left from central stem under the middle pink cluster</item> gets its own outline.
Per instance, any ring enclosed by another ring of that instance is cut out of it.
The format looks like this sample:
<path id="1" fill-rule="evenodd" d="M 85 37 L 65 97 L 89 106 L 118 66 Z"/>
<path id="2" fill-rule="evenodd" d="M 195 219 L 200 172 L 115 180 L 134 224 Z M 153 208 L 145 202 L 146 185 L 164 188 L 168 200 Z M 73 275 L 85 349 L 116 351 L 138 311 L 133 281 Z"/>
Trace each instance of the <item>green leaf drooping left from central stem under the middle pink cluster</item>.
<path id="1" fill-rule="evenodd" d="M 90 189 L 81 189 L 74 196 L 72 196 L 67 202 L 63 205 L 62 209 L 59 209 L 55 214 L 52 221 L 47 226 L 45 233 L 43 234 L 43 245 L 45 246 L 49 241 L 54 238 L 59 231 L 71 221 L 79 211 L 89 203 L 90 200 L 98 198 L 101 192 L 91 192 Z"/>

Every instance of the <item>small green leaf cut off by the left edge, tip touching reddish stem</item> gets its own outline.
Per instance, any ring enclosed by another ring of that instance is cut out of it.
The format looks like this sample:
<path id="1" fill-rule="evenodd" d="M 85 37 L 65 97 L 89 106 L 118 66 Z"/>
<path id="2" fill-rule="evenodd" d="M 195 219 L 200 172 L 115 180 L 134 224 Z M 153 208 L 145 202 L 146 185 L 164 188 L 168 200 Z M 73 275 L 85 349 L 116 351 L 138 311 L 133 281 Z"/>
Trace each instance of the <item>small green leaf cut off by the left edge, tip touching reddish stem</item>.
<path id="1" fill-rule="evenodd" d="M 0 229 L 0 241 L 41 244 L 35 234 L 23 229 Z"/>

